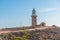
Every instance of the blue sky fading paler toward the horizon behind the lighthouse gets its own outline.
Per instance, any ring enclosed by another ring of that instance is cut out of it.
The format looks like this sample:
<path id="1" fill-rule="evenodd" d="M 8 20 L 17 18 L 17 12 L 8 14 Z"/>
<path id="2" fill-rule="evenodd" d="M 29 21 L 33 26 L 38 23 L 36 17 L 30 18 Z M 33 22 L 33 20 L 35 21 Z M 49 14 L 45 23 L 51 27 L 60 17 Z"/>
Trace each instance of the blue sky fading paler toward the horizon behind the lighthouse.
<path id="1" fill-rule="evenodd" d="M 33 8 L 38 24 L 60 26 L 60 0 L 0 0 L 0 28 L 31 25 Z"/>

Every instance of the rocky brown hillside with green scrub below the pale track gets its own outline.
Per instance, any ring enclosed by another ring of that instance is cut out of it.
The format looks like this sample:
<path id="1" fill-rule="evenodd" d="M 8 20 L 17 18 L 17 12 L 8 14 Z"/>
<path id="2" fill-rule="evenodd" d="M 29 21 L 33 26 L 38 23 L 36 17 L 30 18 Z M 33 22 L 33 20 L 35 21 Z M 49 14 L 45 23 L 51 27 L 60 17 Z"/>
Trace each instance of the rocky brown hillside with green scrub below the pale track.
<path id="1" fill-rule="evenodd" d="M 43 30 L 41 29 L 40 30 L 36 29 L 32 31 L 25 30 L 23 32 L 11 32 L 8 34 L 1 34 L 0 36 L 2 38 L 7 38 L 7 40 L 8 39 L 13 40 L 14 37 L 12 37 L 12 35 L 14 35 L 15 38 L 22 38 L 22 36 L 25 36 L 23 38 L 28 39 L 28 40 L 60 40 L 60 28 L 59 27 L 48 27 Z M 29 38 L 26 38 L 26 37 L 29 37 Z M 21 40 L 21 39 L 17 39 L 17 40 Z"/>

